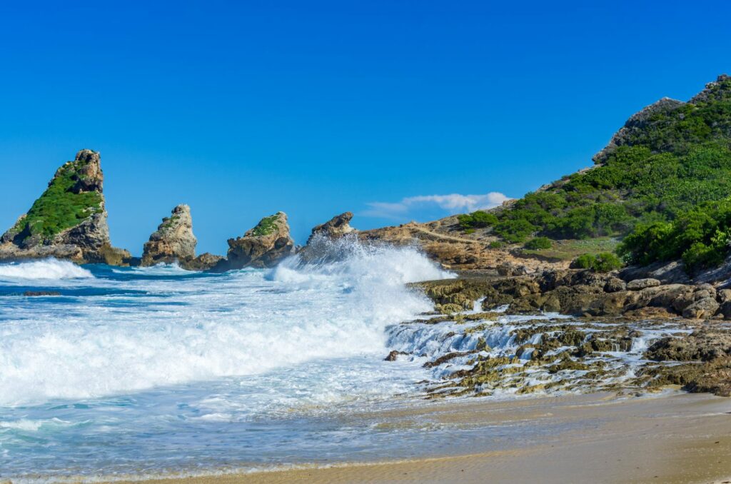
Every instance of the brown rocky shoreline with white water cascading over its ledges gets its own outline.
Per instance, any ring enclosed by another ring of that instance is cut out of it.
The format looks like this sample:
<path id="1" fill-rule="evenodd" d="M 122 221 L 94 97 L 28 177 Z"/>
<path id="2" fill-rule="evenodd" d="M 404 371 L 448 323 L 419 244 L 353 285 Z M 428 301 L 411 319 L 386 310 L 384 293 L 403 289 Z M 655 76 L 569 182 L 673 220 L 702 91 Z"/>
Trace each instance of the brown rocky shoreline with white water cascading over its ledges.
<path id="1" fill-rule="evenodd" d="M 731 396 L 731 290 L 622 279 L 628 273 L 462 273 L 412 284 L 435 311 L 392 328 L 387 360 L 423 360 L 435 375 L 431 397 L 666 385 Z M 424 344 L 400 343 L 412 340 Z"/>

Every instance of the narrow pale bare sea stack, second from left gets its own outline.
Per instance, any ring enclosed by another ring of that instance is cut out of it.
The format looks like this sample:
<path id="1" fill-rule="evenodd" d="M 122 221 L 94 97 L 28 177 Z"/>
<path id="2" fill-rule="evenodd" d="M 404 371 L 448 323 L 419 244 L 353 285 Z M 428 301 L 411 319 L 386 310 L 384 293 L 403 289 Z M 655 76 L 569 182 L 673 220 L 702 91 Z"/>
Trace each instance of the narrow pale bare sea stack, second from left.
<path id="1" fill-rule="evenodd" d="M 162 219 L 150 240 L 143 246 L 142 265 L 193 259 L 198 243 L 193 235 L 193 219 L 188 205 L 173 208 L 169 217 Z"/>

